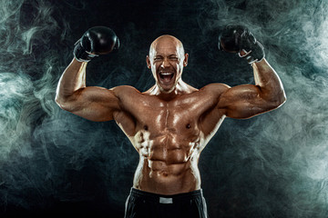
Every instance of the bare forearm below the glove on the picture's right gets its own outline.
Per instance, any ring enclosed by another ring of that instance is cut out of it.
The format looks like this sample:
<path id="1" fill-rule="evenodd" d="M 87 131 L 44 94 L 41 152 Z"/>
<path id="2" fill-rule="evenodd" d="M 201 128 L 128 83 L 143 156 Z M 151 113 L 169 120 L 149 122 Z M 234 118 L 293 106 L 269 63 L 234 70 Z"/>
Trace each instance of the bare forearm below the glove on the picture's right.
<path id="1" fill-rule="evenodd" d="M 261 62 L 251 64 L 255 84 L 260 87 L 261 98 L 268 102 L 283 104 L 286 96 L 282 81 L 272 66 L 263 58 Z"/>

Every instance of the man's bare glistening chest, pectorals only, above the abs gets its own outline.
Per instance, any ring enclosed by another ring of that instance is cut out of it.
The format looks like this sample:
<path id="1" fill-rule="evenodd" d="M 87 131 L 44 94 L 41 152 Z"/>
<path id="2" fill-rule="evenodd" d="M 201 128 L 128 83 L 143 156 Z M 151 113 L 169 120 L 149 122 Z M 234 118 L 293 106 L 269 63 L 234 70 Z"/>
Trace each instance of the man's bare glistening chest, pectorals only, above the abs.
<path id="1" fill-rule="evenodd" d="M 202 114 L 213 107 L 210 97 L 199 97 L 196 94 L 187 95 L 166 102 L 149 96 L 139 98 L 127 108 L 136 120 L 137 129 L 169 131 L 179 134 L 198 128 Z"/>

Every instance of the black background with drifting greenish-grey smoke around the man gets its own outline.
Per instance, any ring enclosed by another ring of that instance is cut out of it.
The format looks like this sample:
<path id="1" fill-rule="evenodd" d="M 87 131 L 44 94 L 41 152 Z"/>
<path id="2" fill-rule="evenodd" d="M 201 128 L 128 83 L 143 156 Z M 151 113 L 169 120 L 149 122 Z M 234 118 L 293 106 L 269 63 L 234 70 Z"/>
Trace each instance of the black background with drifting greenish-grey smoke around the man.
<path id="1" fill-rule="evenodd" d="M 246 61 L 218 51 L 228 24 L 261 41 L 288 100 L 226 119 L 202 152 L 210 217 L 328 216 L 325 2 L 15 0 L 1 8 L 1 217 L 123 217 L 138 154 L 115 122 L 89 122 L 54 102 L 88 28 L 111 27 L 121 46 L 87 65 L 87 85 L 146 91 L 154 83 L 146 55 L 163 34 L 190 54 L 186 83 L 253 83 Z"/>

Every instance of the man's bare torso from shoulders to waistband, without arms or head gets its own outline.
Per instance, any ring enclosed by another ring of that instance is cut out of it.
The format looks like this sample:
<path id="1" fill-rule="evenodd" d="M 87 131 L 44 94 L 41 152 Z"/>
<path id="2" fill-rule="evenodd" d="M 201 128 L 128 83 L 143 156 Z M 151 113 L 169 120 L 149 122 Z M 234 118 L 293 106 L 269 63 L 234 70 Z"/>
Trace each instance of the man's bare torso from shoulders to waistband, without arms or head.
<path id="1" fill-rule="evenodd" d="M 225 117 L 216 109 L 220 91 L 209 85 L 164 101 L 129 86 L 121 89 L 122 111 L 114 119 L 139 154 L 134 188 L 161 194 L 200 189 L 200 152 Z"/>

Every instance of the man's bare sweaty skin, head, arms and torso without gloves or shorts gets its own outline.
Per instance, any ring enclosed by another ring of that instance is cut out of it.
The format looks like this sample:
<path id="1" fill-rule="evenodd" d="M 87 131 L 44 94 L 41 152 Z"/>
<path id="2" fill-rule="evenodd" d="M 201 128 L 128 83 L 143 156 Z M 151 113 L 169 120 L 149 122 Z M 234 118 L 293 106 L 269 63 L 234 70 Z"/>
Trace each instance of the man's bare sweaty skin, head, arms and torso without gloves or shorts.
<path id="1" fill-rule="evenodd" d="M 133 187 L 145 192 L 200 189 L 200 152 L 224 118 L 249 118 L 285 101 L 280 78 L 265 59 L 252 64 L 255 85 L 208 84 L 200 90 L 181 79 L 188 54 L 174 36 L 157 38 L 146 61 L 156 81 L 147 92 L 86 86 L 87 63 L 75 59 L 56 91 L 61 108 L 91 121 L 116 121 L 139 154 Z"/>

